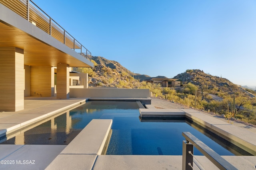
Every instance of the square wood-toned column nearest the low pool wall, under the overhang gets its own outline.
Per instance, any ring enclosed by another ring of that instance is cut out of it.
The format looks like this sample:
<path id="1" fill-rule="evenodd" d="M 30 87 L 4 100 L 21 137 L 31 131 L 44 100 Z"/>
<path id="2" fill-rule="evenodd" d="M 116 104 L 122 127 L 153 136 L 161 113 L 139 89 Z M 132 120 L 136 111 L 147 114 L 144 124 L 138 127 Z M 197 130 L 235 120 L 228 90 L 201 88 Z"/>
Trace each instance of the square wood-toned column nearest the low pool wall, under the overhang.
<path id="1" fill-rule="evenodd" d="M 69 65 L 57 64 L 57 99 L 69 98 Z"/>

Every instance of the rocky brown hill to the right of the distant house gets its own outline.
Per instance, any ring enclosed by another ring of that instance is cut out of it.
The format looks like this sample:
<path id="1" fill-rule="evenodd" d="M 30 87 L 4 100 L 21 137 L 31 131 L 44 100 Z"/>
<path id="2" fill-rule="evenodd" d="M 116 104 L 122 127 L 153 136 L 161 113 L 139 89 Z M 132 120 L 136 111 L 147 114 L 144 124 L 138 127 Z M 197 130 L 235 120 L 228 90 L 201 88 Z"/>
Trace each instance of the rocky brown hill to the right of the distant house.
<path id="1" fill-rule="evenodd" d="M 180 73 L 174 76 L 174 78 L 184 83 L 190 82 L 200 86 L 200 88 L 216 89 L 218 92 L 227 92 L 228 94 L 249 95 L 245 88 L 233 84 L 226 78 L 206 74 L 203 70 L 186 70 L 186 72 Z"/>

